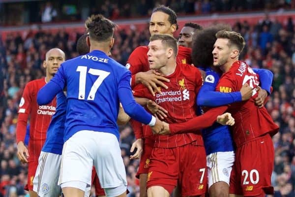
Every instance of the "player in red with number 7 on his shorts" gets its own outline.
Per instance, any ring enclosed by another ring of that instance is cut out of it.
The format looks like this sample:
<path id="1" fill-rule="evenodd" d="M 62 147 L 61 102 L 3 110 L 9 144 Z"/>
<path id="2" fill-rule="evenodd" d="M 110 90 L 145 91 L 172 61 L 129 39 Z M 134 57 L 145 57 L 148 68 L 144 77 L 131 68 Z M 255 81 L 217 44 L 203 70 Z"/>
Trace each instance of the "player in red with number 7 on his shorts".
<path id="1" fill-rule="evenodd" d="M 134 88 L 134 96 L 154 100 L 166 108 L 168 123 L 196 117 L 196 94 L 203 83 L 199 69 L 177 63 L 177 40 L 170 35 L 153 34 L 148 48 L 149 67 L 170 80 L 164 82 L 169 88 L 153 96 L 140 84 Z M 155 137 L 148 168 L 148 196 L 169 197 L 177 183 L 181 196 L 205 194 L 206 153 L 200 131 Z"/>

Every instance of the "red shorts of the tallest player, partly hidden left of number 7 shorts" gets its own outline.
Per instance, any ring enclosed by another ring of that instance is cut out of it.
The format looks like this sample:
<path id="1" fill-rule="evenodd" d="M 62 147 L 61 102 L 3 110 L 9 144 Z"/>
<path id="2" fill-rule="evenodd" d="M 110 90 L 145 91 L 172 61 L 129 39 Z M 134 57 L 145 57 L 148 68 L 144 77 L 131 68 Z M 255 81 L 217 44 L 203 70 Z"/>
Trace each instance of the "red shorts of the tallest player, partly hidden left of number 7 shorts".
<path id="1" fill-rule="evenodd" d="M 154 145 L 154 141 L 152 142 L 148 142 L 146 143 L 146 141 L 144 142 L 144 150 L 143 150 L 143 154 L 140 158 L 140 163 L 139 163 L 139 167 L 138 167 L 138 171 L 136 174 L 136 178 L 139 178 L 140 174 L 148 174 L 148 166 L 149 166 L 149 162 L 150 162 L 150 155 L 151 155 L 151 151 Z"/>

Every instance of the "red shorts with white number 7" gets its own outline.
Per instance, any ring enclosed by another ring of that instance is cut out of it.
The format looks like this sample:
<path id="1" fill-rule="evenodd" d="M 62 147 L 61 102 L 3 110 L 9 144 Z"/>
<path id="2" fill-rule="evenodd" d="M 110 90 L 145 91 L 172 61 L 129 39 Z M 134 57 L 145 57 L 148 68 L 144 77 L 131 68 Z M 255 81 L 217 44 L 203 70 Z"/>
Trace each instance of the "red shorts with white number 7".
<path id="1" fill-rule="evenodd" d="M 207 165 L 204 146 L 191 143 L 175 148 L 153 148 L 147 188 L 162 186 L 171 194 L 177 182 L 182 196 L 205 194 Z"/>

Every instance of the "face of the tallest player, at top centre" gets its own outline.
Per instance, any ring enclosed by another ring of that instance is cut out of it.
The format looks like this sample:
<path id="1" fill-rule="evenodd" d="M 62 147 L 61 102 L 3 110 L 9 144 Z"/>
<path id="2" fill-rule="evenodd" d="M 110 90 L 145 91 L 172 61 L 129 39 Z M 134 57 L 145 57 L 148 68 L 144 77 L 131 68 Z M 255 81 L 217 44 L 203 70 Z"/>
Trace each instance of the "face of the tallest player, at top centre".
<path id="1" fill-rule="evenodd" d="M 150 35 L 153 35 L 155 33 L 173 35 L 175 30 L 173 25 L 168 21 L 168 19 L 169 15 L 164 12 L 152 13 L 149 22 Z"/>

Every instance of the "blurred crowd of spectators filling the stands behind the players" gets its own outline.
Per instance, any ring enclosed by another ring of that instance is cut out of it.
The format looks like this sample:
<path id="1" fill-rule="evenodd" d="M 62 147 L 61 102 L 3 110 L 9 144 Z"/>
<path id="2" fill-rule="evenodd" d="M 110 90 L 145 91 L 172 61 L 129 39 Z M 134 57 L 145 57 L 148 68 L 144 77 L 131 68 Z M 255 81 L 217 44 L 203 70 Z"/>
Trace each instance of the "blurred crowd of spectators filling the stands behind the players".
<path id="1" fill-rule="evenodd" d="M 167 0 L 162 1 L 164 4 L 168 3 Z M 272 0 L 260 1 L 272 2 Z M 143 9 L 146 12 L 140 13 L 147 15 L 150 8 L 147 6 L 147 2 L 140 0 L 135 8 L 131 6 L 126 9 Z M 175 0 L 169 1 L 169 5 L 173 9 L 189 13 L 189 11 L 196 12 L 196 7 L 197 10 L 204 12 L 205 8 L 203 9 L 203 7 L 206 7 L 205 4 L 209 1 L 182 0 L 183 3 L 179 7 L 177 7 L 178 5 L 174 6 L 175 2 Z M 208 9 L 212 11 L 214 3 L 218 2 L 223 3 L 223 10 L 232 10 L 234 9 L 233 4 L 231 4 L 232 9 L 225 5 L 229 2 L 234 3 L 236 0 L 210 1 Z M 247 0 L 247 2 L 249 4 L 245 3 L 245 5 L 239 6 L 244 6 L 243 9 L 247 9 L 247 6 L 254 5 L 253 3 L 258 1 Z M 253 3 L 251 4 L 251 2 Z M 294 0 L 276 0 L 275 2 L 284 5 L 290 4 L 290 6 L 292 3 L 294 4 Z M 105 3 L 111 2 L 105 1 Z M 186 9 L 183 7 L 185 3 L 192 4 Z M 105 7 L 113 9 L 115 4 L 111 3 L 112 6 Z M 150 6 L 153 5 L 150 4 Z M 94 6 L 91 13 L 100 12 L 104 9 L 103 7 Z M 119 12 L 121 16 L 124 6 L 120 7 L 123 8 Z M 217 9 L 216 5 L 214 9 Z M 107 10 L 104 13 L 105 16 L 112 17 L 114 10 L 112 12 Z M 129 11 L 127 12 L 130 14 Z M 56 14 L 58 15 L 58 13 L 59 11 Z M 291 18 L 287 24 L 265 19 L 251 26 L 245 21 L 236 23 L 233 26 L 233 31 L 241 33 L 246 40 L 246 48 L 240 59 L 245 60 L 252 67 L 269 69 L 274 74 L 273 92 L 266 108 L 281 129 L 273 137 L 275 165 L 272 185 L 275 186 L 275 197 L 295 197 L 295 23 Z M 27 183 L 27 166 L 21 164 L 17 159 L 15 142 L 17 110 L 24 87 L 30 80 L 44 76 L 42 63 L 45 53 L 50 48 L 59 47 L 62 49 L 66 54 L 66 59 L 78 56 L 76 42 L 80 36 L 81 34 L 74 31 L 60 30 L 57 33 L 42 31 L 36 34 L 29 33 L 26 37 L 22 37 L 21 34 L 8 34 L 5 40 L 0 37 L 0 197 L 26 196 L 24 186 Z M 136 30 L 117 31 L 112 57 L 125 65 L 130 53 L 137 46 L 148 44 L 149 36 L 148 26 L 143 32 Z M 127 172 L 129 197 L 139 197 L 139 181 L 135 178 L 139 161 L 130 161 L 129 159 L 132 154 L 130 147 L 134 140 L 135 137 L 129 125 L 120 127 L 121 154 Z"/>

